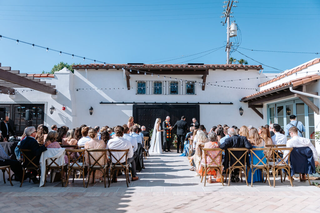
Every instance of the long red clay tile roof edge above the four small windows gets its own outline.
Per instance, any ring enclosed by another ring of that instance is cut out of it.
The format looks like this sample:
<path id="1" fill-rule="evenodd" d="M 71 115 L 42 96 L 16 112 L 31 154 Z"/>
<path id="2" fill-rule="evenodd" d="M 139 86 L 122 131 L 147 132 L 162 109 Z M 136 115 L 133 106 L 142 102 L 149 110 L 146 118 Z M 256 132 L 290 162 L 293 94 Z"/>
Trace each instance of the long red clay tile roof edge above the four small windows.
<path id="1" fill-rule="evenodd" d="M 116 67 L 124 68 L 232 68 L 232 69 L 259 69 L 262 70 L 262 65 L 183 65 L 183 64 L 145 64 L 145 65 L 127 65 L 127 64 L 114 64 Z M 113 64 L 87 64 L 87 65 L 73 65 L 72 68 L 95 68 L 105 67 L 112 68 Z"/>

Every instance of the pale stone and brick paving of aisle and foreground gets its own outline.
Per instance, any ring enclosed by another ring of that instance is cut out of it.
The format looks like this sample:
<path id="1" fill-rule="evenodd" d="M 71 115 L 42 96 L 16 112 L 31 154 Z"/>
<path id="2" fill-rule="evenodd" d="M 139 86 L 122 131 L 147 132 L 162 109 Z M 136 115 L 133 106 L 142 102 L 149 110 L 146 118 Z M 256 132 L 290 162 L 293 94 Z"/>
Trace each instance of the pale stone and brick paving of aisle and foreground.
<path id="1" fill-rule="evenodd" d="M 276 188 L 264 183 L 245 182 L 230 186 L 200 183 L 186 157 L 177 153 L 153 155 L 145 160 L 146 169 L 138 173 L 140 180 L 126 187 L 118 179 L 110 188 L 103 183 L 82 187 L 82 180 L 61 187 L 60 182 L 37 187 L 28 181 L 0 184 L 1 212 L 318 212 L 320 189 L 308 182 L 276 180 Z M 120 176 L 121 177 L 121 176 Z M 273 179 L 270 180 L 273 184 Z"/>

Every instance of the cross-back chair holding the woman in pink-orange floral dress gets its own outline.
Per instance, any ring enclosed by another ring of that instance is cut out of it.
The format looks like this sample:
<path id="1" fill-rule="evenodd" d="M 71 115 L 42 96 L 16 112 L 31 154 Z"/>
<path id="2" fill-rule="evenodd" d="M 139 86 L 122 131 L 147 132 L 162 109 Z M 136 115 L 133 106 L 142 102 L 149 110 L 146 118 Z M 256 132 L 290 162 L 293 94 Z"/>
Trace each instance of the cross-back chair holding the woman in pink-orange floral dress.
<path id="1" fill-rule="evenodd" d="M 214 158 L 212 158 L 211 155 L 208 155 L 208 151 L 219 151 L 219 154 L 217 156 L 215 156 Z M 222 149 L 220 148 L 203 148 L 203 152 L 204 152 L 204 164 L 201 164 L 200 166 L 202 166 L 202 178 L 201 178 L 201 183 L 202 183 L 202 179 L 204 176 L 204 186 L 205 186 L 205 182 L 207 179 L 207 172 L 209 170 L 216 170 L 217 173 L 220 172 L 221 175 L 221 183 L 222 186 L 224 186 L 223 184 L 223 177 L 222 177 Z M 207 156 L 210 157 L 211 159 L 211 163 L 208 164 L 207 163 Z"/>

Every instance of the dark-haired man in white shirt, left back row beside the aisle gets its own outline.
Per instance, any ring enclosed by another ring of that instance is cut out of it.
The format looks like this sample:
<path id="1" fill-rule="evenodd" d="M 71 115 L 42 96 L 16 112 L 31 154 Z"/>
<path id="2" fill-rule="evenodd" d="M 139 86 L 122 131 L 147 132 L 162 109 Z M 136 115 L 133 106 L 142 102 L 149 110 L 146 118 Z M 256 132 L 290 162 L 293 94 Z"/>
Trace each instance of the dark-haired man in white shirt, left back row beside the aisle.
<path id="1" fill-rule="evenodd" d="M 134 153 L 133 149 L 132 149 L 132 144 L 130 141 L 128 141 L 127 139 L 123 138 L 123 134 L 124 134 L 124 128 L 122 126 L 116 126 L 115 127 L 115 138 L 112 138 L 108 141 L 107 145 L 106 145 L 106 149 L 119 149 L 119 150 L 124 150 L 124 149 L 129 149 L 128 152 L 128 159 L 127 159 L 127 163 L 130 164 L 130 171 L 132 174 L 132 179 L 131 181 L 135 181 L 138 180 L 139 177 L 136 177 L 136 163 L 134 161 Z M 138 135 L 140 137 L 140 135 Z M 141 137 L 140 137 L 141 138 Z M 117 160 L 119 160 L 122 156 L 123 156 L 124 152 L 113 152 L 112 155 L 114 155 Z M 107 152 L 107 155 L 110 156 L 110 153 Z M 124 163 L 125 162 L 125 156 L 120 160 L 120 163 Z M 116 160 L 114 158 L 112 158 L 112 163 L 116 163 Z M 117 176 L 116 176 L 116 172 L 113 174 L 113 182 L 116 182 Z"/>

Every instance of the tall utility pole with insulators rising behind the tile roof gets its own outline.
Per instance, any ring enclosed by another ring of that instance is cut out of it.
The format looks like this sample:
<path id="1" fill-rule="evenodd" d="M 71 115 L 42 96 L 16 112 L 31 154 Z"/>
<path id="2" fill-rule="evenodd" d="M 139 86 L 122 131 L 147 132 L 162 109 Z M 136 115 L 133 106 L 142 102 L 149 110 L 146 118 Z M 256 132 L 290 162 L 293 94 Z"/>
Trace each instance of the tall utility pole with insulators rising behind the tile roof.
<path id="1" fill-rule="evenodd" d="M 236 5 L 232 5 L 233 3 L 238 3 L 238 1 L 224 1 L 224 4 L 228 3 L 227 5 L 223 5 L 223 8 L 226 8 L 222 14 L 223 16 L 220 16 L 220 18 L 226 18 L 224 22 L 221 21 L 221 24 L 224 26 L 225 23 L 227 23 L 227 46 L 226 46 L 226 52 L 227 52 L 227 64 L 230 63 L 230 47 L 231 47 L 231 42 L 230 42 L 230 17 L 233 17 L 232 15 L 230 16 L 231 12 L 231 7 L 236 7 Z"/>

